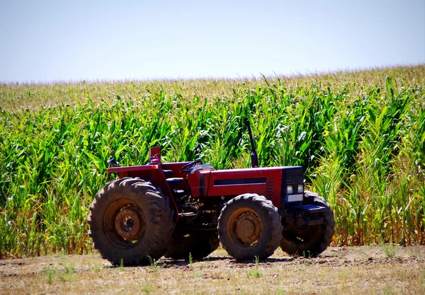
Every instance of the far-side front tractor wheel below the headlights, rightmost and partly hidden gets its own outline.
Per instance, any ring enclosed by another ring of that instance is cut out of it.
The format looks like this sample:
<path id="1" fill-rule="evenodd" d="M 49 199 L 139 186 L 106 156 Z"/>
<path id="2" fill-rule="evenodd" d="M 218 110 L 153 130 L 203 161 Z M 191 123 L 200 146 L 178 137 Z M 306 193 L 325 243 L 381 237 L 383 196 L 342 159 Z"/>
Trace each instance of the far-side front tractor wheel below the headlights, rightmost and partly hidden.
<path id="1" fill-rule="evenodd" d="M 331 244 L 335 232 L 334 212 L 324 198 L 314 192 L 305 192 L 303 204 L 325 207 L 324 223 L 296 231 L 283 231 L 280 248 L 289 255 L 317 257 Z"/>

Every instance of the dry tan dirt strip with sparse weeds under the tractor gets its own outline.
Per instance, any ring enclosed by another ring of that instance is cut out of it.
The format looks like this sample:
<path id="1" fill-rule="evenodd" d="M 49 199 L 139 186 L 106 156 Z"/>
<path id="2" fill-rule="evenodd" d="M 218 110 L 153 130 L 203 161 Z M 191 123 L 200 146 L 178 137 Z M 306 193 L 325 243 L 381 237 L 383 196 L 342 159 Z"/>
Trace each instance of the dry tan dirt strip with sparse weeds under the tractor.
<path id="1" fill-rule="evenodd" d="M 0 294 L 425 294 L 425 246 L 334 247 L 318 258 L 278 249 L 259 262 L 219 248 L 145 267 L 112 267 L 98 254 L 0 260 Z"/>

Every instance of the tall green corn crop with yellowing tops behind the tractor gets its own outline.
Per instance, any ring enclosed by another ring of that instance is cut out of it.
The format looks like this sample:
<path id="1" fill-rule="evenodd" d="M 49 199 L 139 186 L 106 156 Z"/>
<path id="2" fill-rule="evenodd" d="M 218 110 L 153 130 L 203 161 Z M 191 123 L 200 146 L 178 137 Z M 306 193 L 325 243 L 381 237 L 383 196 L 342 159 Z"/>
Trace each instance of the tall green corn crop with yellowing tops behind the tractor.
<path id="1" fill-rule="evenodd" d="M 0 258 L 88 253 L 106 161 L 303 166 L 335 245 L 425 244 L 425 65 L 239 80 L 0 84 Z"/>

